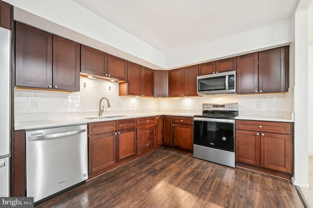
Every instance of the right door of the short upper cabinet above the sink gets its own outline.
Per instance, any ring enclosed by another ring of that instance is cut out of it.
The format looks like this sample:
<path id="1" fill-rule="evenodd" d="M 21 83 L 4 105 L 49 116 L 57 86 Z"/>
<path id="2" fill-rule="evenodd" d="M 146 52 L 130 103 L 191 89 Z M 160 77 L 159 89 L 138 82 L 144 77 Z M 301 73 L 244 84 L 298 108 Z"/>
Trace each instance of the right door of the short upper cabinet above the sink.
<path id="1" fill-rule="evenodd" d="M 108 77 L 127 81 L 127 61 L 108 54 Z"/>

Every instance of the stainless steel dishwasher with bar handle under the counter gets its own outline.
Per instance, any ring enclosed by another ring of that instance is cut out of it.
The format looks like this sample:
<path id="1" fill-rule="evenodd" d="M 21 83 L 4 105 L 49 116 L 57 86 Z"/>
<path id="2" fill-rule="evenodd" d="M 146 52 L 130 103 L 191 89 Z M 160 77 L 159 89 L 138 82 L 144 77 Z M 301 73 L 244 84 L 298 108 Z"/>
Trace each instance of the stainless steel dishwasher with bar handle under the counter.
<path id="1" fill-rule="evenodd" d="M 26 131 L 26 196 L 44 201 L 86 181 L 87 146 L 87 125 Z"/>

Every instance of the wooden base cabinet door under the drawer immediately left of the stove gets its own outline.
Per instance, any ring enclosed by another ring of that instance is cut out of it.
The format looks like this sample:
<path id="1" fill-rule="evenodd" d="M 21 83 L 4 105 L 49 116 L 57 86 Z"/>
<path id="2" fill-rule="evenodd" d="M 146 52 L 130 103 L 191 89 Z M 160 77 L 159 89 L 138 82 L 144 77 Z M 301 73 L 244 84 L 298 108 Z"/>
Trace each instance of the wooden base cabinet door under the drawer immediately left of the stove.
<path id="1" fill-rule="evenodd" d="M 186 150 L 193 150 L 193 125 L 173 125 L 173 141 L 174 146 Z"/>

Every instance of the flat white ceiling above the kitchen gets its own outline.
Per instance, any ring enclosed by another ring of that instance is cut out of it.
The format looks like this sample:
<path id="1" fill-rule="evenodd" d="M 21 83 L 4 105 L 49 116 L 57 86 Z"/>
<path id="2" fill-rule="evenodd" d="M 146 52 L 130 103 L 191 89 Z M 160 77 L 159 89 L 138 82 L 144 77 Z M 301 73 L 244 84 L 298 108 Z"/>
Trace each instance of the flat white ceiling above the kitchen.
<path id="1" fill-rule="evenodd" d="M 170 54 L 289 19 L 298 0 L 72 0 Z"/>

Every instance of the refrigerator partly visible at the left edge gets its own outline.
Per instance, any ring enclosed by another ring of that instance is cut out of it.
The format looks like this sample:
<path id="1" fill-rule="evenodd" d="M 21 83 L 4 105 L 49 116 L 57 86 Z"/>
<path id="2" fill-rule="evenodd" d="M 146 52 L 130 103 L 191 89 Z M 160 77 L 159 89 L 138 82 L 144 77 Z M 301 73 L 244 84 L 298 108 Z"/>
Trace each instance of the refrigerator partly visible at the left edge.
<path id="1" fill-rule="evenodd" d="M 0 197 L 10 196 L 11 31 L 0 27 Z"/>

